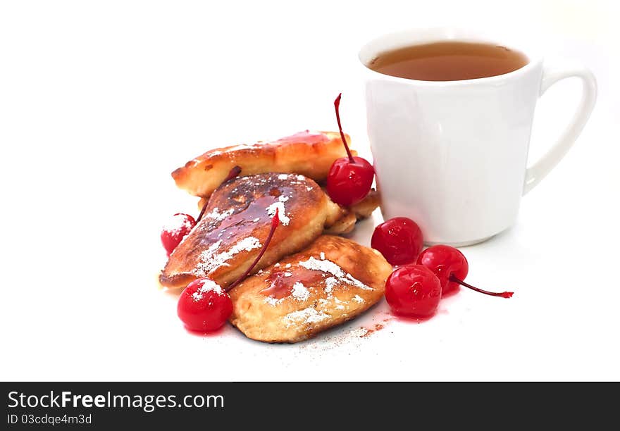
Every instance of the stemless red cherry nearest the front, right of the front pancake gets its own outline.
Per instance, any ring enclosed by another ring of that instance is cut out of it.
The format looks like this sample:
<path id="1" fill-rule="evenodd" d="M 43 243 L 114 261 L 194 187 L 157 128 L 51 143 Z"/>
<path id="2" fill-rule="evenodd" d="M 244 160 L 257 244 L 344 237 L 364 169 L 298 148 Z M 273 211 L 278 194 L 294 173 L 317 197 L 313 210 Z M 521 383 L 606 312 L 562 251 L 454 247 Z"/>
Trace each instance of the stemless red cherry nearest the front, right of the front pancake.
<path id="1" fill-rule="evenodd" d="M 426 266 L 401 266 L 387 277 L 385 299 L 396 314 L 427 318 L 437 310 L 441 284 Z"/>

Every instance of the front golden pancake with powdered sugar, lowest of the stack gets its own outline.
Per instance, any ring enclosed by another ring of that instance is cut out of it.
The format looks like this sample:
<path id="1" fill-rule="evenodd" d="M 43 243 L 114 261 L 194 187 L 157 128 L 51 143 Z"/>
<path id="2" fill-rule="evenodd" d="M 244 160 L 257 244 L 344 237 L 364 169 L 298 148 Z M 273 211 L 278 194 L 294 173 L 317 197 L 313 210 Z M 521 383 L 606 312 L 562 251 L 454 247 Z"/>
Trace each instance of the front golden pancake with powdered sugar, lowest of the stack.
<path id="1" fill-rule="evenodd" d="M 299 342 L 376 304 L 390 273 L 378 251 L 322 235 L 231 289 L 230 323 L 259 341 Z"/>

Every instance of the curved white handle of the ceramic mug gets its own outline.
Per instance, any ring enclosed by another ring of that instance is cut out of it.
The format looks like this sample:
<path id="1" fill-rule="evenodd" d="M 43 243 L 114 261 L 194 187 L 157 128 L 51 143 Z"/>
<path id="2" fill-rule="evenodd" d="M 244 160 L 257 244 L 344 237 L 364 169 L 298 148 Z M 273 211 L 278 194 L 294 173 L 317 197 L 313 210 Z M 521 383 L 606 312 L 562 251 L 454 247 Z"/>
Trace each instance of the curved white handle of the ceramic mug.
<path id="1" fill-rule="evenodd" d="M 558 141 L 551 147 L 547 153 L 526 170 L 526 179 L 523 185 L 523 195 L 527 194 L 531 189 L 538 185 L 548 173 L 551 172 L 557 163 L 562 160 L 575 140 L 583 130 L 583 126 L 588 121 L 590 113 L 594 108 L 596 101 L 596 79 L 594 75 L 584 67 L 573 68 L 548 68 L 545 66 L 543 70 L 543 81 L 540 84 L 540 96 L 545 94 L 547 89 L 560 80 L 569 77 L 578 77 L 583 84 L 581 101 L 575 115 L 569 123 L 566 130 Z"/>

